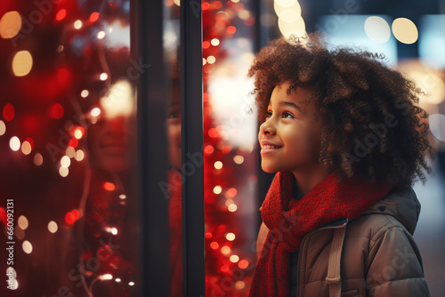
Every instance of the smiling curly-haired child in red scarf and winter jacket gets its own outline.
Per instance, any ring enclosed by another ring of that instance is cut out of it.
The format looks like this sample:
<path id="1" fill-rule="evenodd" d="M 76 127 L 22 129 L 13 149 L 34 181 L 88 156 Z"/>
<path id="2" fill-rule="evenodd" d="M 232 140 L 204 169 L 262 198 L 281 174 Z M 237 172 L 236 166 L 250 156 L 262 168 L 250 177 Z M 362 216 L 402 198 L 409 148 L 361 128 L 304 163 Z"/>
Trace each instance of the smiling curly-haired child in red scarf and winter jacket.
<path id="1" fill-rule="evenodd" d="M 429 296 L 411 185 L 431 173 L 415 84 L 382 56 L 275 40 L 255 76 L 263 202 L 250 296 Z"/>

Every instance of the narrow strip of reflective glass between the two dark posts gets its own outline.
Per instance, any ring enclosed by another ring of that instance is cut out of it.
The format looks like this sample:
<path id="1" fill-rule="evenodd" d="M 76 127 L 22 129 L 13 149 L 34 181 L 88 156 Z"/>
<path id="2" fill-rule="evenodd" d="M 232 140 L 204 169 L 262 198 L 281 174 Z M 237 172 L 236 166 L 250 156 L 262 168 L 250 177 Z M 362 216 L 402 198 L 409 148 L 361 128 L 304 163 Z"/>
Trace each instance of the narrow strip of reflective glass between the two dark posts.
<path id="1" fill-rule="evenodd" d="M 182 158 L 181 158 L 181 68 L 179 1 L 166 1 L 164 20 L 164 54 L 167 72 L 168 138 L 168 221 L 170 296 L 182 296 Z"/>

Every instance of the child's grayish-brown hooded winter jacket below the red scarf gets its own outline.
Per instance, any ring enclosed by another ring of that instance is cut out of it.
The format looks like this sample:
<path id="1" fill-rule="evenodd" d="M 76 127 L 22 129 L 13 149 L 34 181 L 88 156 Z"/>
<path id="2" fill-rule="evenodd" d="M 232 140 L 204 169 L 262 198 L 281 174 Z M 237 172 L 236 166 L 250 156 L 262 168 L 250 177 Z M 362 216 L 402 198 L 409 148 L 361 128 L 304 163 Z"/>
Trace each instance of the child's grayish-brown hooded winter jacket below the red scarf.
<path id="1" fill-rule="evenodd" d="M 414 190 L 394 188 L 360 218 L 315 229 L 303 238 L 297 264 L 291 266 L 297 279 L 291 279 L 290 292 L 298 297 L 430 296 L 412 237 L 419 213 Z M 263 224 L 258 255 L 268 231 Z"/>

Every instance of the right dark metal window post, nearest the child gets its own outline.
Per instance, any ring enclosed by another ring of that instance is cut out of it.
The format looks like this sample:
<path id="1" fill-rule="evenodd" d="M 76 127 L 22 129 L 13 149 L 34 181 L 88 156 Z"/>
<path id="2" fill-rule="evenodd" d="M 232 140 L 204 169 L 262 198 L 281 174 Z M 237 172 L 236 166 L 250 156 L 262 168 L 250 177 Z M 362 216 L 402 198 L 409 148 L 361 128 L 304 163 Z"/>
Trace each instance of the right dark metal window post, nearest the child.
<path id="1" fill-rule="evenodd" d="M 183 296 L 205 296 L 201 1 L 182 0 L 180 18 Z"/>

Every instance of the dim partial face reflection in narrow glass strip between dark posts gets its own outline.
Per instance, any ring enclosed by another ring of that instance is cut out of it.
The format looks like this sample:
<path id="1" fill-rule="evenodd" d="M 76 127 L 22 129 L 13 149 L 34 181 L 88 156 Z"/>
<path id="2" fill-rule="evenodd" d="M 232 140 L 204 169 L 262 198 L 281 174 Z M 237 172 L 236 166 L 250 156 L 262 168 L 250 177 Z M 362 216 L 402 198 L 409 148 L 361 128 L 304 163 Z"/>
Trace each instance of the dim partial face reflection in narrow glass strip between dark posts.
<path id="1" fill-rule="evenodd" d="M 181 102 L 174 100 L 167 114 L 168 150 L 170 165 L 181 169 Z"/>

